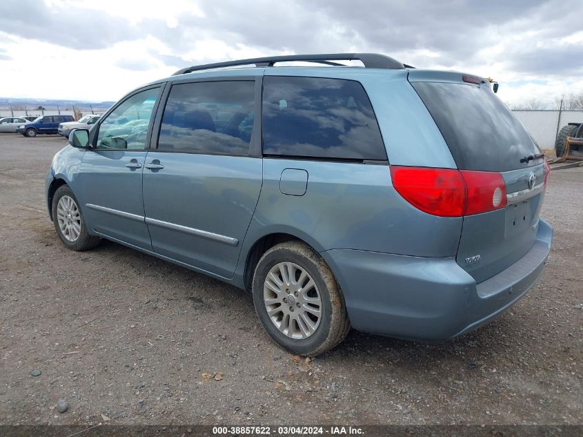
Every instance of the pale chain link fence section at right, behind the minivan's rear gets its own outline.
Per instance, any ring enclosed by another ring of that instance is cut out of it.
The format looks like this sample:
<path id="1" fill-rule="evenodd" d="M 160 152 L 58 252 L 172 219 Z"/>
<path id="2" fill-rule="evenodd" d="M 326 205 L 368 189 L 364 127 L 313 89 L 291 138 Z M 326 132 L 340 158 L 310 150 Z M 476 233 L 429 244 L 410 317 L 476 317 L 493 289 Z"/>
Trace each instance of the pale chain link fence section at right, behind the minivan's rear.
<path id="1" fill-rule="evenodd" d="M 535 142 L 543 150 L 554 148 L 560 128 L 583 123 L 583 110 L 513 110 Z"/>

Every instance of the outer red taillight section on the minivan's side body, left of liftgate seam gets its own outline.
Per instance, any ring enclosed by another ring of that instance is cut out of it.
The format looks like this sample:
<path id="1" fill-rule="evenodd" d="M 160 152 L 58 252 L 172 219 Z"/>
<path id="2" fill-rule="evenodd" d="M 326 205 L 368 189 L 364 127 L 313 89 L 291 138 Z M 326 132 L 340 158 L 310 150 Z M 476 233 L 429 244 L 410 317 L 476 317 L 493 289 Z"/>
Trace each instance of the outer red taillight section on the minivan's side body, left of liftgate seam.
<path id="1" fill-rule="evenodd" d="M 459 217 L 466 210 L 466 185 L 457 170 L 391 166 L 395 190 L 428 214 Z"/>

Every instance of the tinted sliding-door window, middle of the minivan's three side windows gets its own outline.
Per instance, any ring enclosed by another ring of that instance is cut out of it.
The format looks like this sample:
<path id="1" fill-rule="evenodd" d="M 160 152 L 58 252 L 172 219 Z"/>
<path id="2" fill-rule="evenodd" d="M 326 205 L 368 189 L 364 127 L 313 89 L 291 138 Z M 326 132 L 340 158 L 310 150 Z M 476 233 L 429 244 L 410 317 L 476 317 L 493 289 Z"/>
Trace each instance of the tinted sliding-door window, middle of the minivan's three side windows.
<path id="1" fill-rule="evenodd" d="M 254 104 L 253 81 L 173 85 L 162 117 L 158 149 L 247 155 Z"/>

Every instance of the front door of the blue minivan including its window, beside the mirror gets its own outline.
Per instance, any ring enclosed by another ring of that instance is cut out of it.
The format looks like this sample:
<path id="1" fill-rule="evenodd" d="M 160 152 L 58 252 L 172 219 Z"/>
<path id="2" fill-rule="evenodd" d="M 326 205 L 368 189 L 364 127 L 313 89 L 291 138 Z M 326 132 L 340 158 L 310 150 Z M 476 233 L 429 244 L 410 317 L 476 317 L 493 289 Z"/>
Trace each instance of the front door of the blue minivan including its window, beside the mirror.
<path id="1" fill-rule="evenodd" d="M 83 156 L 75 184 L 93 231 L 148 250 L 141 176 L 159 94 L 155 87 L 130 95 L 96 126 L 97 137 Z"/>

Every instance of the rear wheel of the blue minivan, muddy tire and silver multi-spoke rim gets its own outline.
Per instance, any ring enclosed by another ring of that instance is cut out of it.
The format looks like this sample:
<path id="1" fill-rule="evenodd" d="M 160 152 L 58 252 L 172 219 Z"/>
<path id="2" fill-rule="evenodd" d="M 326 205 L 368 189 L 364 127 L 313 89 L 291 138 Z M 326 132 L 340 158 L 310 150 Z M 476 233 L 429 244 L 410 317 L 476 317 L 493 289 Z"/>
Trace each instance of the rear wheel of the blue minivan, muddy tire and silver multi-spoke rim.
<path id="1" fill-rule="evenodd" d="M 253 276 L 259 321 L 279 346 L 317 356 L 350 331 L 344 296 L 322 257 L 302 242 L 266 251 Z"/>

